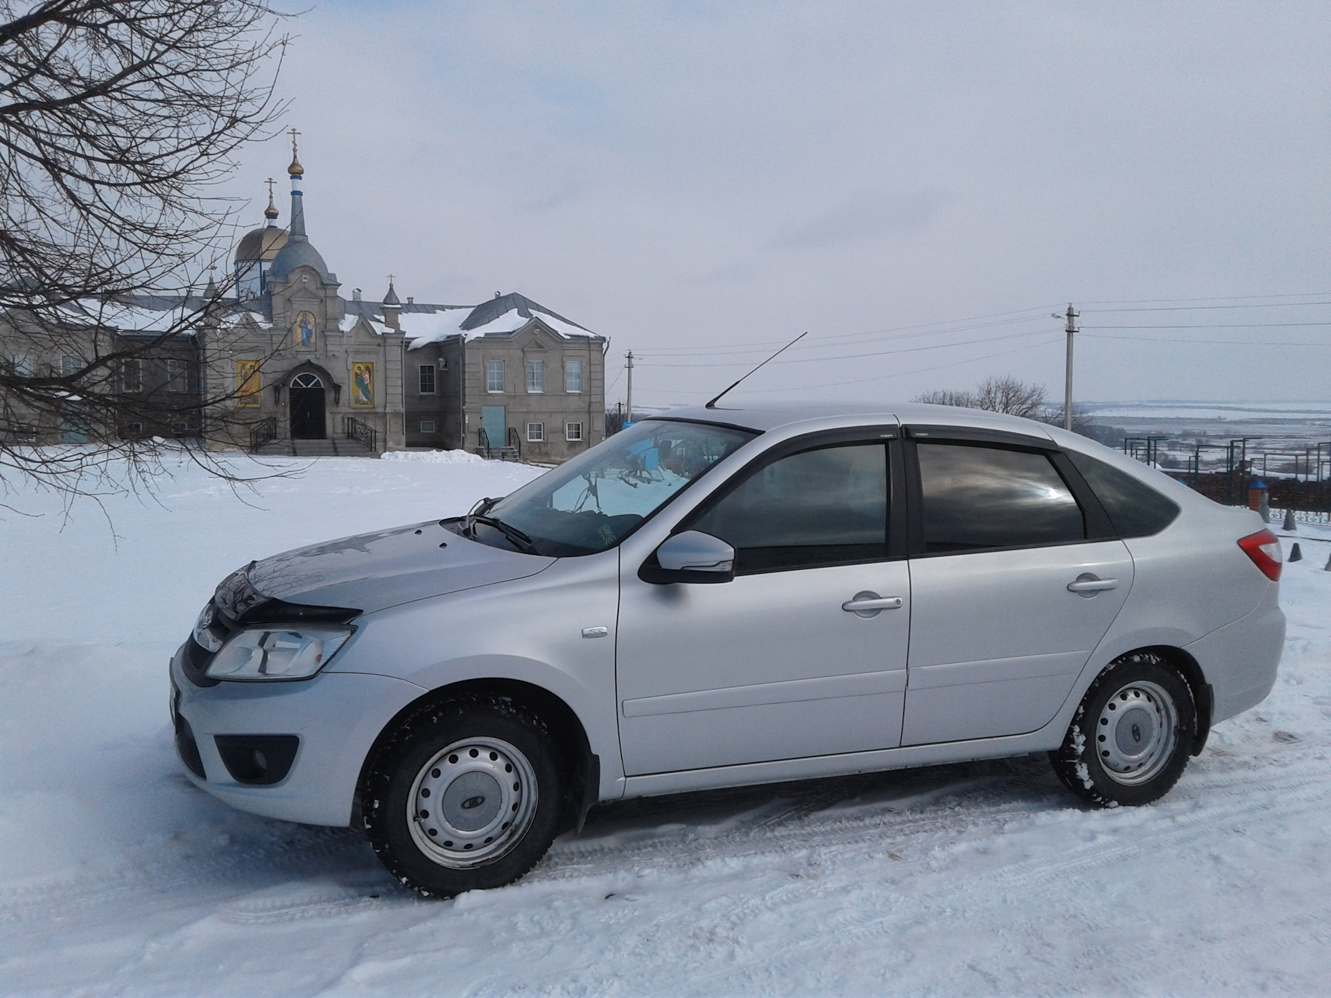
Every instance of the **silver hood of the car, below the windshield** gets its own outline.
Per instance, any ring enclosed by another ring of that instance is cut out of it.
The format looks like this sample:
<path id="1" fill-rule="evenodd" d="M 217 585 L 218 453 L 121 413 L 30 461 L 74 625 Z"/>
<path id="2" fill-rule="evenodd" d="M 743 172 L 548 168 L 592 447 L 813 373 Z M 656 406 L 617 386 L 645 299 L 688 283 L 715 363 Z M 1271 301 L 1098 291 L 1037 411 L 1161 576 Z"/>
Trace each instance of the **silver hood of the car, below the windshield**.
<path id="1" fill-rule="evenodd" d="M 284 551 L 256 562 L 248 575 L 258 595 L 269 599 L 370 613 L 522 579 L 554 562 L 480 544 L 427 520 Z"/>

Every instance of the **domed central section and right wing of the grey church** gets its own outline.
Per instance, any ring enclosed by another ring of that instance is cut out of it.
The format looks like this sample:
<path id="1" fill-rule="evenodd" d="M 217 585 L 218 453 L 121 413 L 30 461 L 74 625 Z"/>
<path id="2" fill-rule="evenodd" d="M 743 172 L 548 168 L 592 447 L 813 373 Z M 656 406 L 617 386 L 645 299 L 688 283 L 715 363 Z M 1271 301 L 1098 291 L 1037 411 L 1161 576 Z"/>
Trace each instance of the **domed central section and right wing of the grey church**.
<path id="1" fill-rule="evenodd" d="M 556 463 L 604 436 L 610 341 L 520 294 L 478 306 L 341 294 L 309 240 L 293 142 L 290 228 L 236 250 L 238 309 L 212 334 L 206 367 L 234 365 L 236 406 L 262 450 L 465 448 Z M 205 353 L 209 334 L 205 333 Z M 237 443 L 244 443 L 237 440 Z M 357 447 L 359 444 L 359 447 Z"/>

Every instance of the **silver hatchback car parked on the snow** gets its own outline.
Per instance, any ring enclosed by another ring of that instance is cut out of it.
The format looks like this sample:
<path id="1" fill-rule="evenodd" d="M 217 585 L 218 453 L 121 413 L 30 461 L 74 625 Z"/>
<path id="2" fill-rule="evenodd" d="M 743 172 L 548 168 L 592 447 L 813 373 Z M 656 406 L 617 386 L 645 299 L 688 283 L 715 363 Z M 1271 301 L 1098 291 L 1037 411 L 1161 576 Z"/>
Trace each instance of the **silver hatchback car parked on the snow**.
<path id="1" fill-rule="evenodd" d="M 451 896 L 644 794 L 1047 752 L 1087 801 L 1154 801 L 1270 692 L 1279 575 L 1256 514 L 1041 423 L 699 409 L 250 563 L 170 709 L 209 793 L 363 821 Z"/>

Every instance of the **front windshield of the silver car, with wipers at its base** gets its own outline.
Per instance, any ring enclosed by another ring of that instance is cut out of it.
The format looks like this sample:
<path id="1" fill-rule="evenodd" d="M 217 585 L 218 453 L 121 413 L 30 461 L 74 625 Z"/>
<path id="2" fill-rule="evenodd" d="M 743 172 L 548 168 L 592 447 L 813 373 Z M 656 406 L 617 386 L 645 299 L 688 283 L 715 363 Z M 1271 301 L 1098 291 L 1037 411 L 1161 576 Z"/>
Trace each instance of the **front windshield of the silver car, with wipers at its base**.
<path id="1" fill-rule="evenodd" d="M 606 551 L 755 435 L 709 423 L 635 423 L 484 510 L 475 538 L 523 547 L 488 519 L 522 531 L 535 554 Z"/>

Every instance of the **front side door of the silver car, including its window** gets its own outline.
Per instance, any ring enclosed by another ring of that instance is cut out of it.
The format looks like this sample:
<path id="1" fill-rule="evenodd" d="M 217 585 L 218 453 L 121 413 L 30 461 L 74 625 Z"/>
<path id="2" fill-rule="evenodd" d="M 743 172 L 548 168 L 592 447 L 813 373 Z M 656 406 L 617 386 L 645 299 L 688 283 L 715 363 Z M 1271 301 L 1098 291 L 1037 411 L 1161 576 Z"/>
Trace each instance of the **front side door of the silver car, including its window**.
<path id="1" fill-rule="evenodd" d="M 904 515 L 892 518 L 890 479 L 904 491 L 894 435 L 779 446 L 685 516 L 676 534 L 735 548 L 729 582 L 654 584 L 620 566 L 627 774 L 900 743 L 910 588 Z M 856 599 L 882 605 L 844 608 Z"/>

